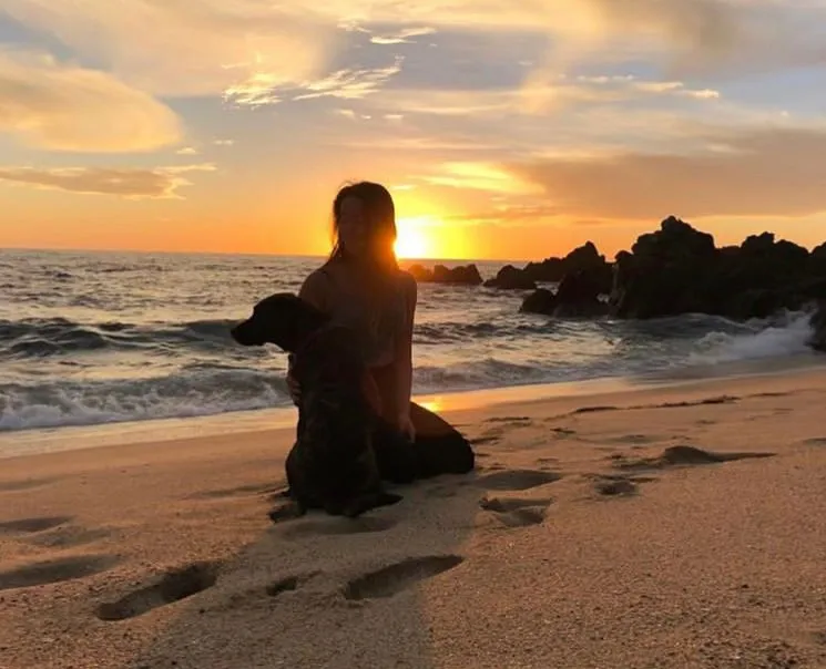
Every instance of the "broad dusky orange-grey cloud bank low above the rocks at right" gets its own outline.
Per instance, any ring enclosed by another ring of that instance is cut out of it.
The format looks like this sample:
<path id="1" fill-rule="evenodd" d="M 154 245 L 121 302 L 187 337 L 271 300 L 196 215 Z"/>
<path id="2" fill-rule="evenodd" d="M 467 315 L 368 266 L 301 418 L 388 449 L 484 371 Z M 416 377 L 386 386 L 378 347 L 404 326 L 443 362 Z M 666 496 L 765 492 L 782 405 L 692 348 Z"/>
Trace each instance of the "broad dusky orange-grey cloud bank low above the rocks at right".
<path id="1" fill-rule="evenodd" d="M 502 166 L 569 216 L 806 216 L 826 212 L 826 128 L 708 132 L 685 154 L 620 152 Z"/>

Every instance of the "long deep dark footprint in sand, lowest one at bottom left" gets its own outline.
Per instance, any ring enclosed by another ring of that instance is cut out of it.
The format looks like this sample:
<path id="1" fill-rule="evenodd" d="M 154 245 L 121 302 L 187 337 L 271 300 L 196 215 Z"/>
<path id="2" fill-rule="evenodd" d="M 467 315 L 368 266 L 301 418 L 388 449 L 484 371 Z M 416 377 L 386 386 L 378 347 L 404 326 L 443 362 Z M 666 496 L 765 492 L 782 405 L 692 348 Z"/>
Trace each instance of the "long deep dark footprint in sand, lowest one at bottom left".
<path id="1" fill-rule="evenodd" d="M 196 563 L 165 574 L 157 583 L 130 593 L 118 601 L 101 604 L 101 620 L 126 620 L 155 608 L 192 597 L 217 581 L 217 564 Z"/>

